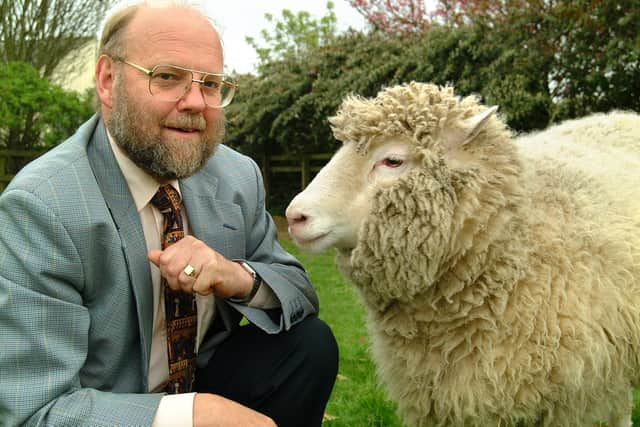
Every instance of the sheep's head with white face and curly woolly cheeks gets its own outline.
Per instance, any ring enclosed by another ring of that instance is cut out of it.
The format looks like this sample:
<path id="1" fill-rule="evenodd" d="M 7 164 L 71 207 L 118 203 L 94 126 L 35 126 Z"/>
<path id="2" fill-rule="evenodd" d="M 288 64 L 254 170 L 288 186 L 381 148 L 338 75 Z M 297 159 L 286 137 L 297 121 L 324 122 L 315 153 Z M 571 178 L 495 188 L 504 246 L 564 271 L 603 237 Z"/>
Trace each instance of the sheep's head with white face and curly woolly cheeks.
<path id="1" fill-rule="evenodd" d="M 457 237 L 477 204 L 504 201 L 478 199 L 482 185 L 519 170 L 494 112 L 449 87 L 420 83 L 347 98 L 330 119 L 343 146 L 287 208 L 294 241 L 312 251 L 336 247 L 352 263 L 412 263 L 417 253 L 428 262 L 415 268 L 435 277 L 465 245 Z M 466 193 L 476 197 L 461 207 Z"/>

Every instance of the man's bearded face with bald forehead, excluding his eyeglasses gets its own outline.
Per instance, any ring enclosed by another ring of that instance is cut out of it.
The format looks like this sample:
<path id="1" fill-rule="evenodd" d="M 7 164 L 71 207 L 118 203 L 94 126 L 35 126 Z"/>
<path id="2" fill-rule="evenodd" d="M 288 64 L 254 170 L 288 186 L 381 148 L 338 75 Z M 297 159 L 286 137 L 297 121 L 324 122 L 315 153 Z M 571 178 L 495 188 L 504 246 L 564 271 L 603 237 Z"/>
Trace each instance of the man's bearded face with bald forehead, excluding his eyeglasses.
<path id="1" fill-rule="evenodd" d="M 187 9 L 143 9 L 130 23 L 125 59 L 153 68 L 171 64 L 222 72 L 211 24 Z M 139 167 L 169 180 L 202 168 L 224 136 L 224 112 L 204 103 L 199 84 L 178 101 L 149 93 L 148 76 L 114 62 L 112 107 L 105 121 L 117 144 Z M 200 76 L 194 76 L 196 79 Z"/>

